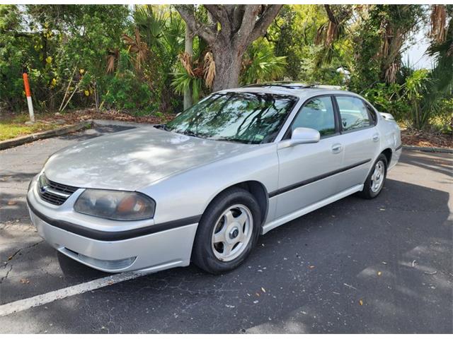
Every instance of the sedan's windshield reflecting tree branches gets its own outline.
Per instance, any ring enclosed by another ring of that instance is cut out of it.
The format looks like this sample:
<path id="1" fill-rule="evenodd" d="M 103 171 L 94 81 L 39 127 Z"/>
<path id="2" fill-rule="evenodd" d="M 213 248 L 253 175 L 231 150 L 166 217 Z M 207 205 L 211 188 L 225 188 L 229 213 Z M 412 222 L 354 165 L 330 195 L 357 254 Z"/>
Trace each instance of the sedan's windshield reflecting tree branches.
<path id="1" fill-rule="evenodd" d="M 269 93 L 214 93 L 166 124 L 166 129 L 200 138 L 268 143 L 297 97 Z"/>

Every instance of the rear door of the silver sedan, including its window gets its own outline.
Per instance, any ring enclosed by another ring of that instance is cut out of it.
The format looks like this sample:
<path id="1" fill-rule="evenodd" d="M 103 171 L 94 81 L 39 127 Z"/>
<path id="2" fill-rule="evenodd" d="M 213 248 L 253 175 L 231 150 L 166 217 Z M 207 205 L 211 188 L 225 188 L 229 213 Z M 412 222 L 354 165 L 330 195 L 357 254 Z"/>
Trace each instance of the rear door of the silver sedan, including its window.
<path id="1" fill-rule="evenodd" d="M 335 99 L 344 148 L 343 166 L 348 169 L 339 182 L 339 189 L 343 191 L 365 182 L 379 151 L 381 136 L 375 126 L 377 117 L 364 100 L 352 95 L 335 95 Z"/>

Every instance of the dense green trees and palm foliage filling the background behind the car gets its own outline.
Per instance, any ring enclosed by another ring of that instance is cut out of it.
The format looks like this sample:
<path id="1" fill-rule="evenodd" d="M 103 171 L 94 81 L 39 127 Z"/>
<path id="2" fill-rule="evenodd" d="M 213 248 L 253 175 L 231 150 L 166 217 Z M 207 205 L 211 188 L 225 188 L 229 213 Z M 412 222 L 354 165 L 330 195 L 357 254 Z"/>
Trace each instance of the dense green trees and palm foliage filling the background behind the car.
<path id="1" fill-rule="evenodd" d="M 445 40 L 432 38 L 428 51 L 433 69 L 418 70 L 403 65 L 401 54 L 428 24 L 430 6 L 331 5 L 336 18 L 346 19 L 328 40 L 325 6 L 285 5 L 246 50 L 240 81 L 343 85 L 409 126 L 451 132 L 453 6 L 445 8 Z M 204 6 L 195 16 L 208 22 Z M 194 37 L 190 72 L 178 58 L 184 35 L 183 20 L 168 5 L 0 5 L 0 109 L 25 109 L 27 72 L 38 113 L 62 103 L 178 112 L 185 89 L 194 102 L 211 91 L 203 79 L 209 46 Z"/>

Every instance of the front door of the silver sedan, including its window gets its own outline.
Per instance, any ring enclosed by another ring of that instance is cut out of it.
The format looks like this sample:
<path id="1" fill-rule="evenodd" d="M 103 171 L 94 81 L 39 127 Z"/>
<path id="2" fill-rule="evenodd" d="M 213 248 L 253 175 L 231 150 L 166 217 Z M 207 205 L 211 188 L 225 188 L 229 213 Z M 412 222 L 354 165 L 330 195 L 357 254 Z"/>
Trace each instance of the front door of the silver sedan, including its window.
<path id="1" fill-rule="evenodd" d="M 335 173 L 342 167 L 343 146 L 334 107 L 331 95 L 313 97 L 289 126 L 284 139 L 297 127 L 309 127 L 319 131 L 321 140 L 278 149 L 279 189 L 271 194 L 277 196 L 275 218 L 338 193 Z"/>

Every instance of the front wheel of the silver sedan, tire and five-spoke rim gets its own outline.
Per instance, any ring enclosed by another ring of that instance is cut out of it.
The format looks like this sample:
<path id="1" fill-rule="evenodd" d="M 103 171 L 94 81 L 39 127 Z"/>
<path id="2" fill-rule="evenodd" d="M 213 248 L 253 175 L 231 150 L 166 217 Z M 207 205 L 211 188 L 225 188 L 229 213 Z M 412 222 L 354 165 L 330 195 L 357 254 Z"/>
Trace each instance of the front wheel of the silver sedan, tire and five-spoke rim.
<path id="1" fill-rule="evenodd" d="M 193 262 L 209 273 L 233 270 L 255 246 L 260 225 L 260 208 L 250 192 L 239 188 L 222 192 L 200 220 Z"/>

